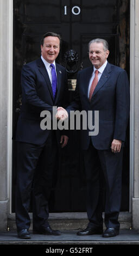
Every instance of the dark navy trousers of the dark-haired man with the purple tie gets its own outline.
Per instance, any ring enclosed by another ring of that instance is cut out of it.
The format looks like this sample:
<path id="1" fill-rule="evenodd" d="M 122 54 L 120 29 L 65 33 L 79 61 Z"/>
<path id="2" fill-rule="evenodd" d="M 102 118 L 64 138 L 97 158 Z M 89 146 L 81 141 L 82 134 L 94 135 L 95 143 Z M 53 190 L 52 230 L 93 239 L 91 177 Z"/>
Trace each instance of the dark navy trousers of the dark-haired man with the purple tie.
<path id="1" fill-rule="evenodd" d="M 48 227 L 48 199 L 56 161 L 56 137 L 50 133 L 46 143 L 18 142 L 16 182 L 17 230 L 29 229 L 30 194 L 33 188 L 33 228 Z"/>

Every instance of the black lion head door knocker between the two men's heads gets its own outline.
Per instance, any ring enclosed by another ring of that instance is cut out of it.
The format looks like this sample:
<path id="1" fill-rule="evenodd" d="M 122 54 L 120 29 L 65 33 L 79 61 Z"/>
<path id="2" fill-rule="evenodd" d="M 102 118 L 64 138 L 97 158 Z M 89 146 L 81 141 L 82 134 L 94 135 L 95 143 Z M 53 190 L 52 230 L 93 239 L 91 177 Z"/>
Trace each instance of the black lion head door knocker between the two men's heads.
<path id="1" fill-rule="evenodd" d="M 64 60 L 66 63 L 66 71 L 69 74 L 74 74 L 78 71 L 78 53 L 74 50 L 65 52 Z"/>

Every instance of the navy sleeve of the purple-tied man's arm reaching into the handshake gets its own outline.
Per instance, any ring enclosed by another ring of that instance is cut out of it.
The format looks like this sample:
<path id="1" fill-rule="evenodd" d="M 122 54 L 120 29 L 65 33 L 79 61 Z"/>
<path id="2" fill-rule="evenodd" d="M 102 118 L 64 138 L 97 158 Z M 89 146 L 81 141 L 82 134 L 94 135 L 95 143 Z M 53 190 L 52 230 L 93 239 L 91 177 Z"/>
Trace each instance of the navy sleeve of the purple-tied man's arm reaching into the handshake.
<path id="1" fill-rule="evenodd" d="M 21 74 L 23 100 L 30 106 L 33 106 L 36 112 L 47 110 L 52 112 L 53 107 L 41 100 L 36 92 L 36 75 L 28 66 L 24 65 Z"/>

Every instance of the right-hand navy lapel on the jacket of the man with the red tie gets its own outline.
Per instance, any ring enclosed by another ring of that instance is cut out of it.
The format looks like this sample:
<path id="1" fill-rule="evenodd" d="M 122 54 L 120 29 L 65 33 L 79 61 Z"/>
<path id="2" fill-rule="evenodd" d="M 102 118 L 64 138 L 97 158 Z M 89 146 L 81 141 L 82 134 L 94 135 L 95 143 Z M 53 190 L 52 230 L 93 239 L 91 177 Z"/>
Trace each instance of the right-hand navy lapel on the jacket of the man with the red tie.
<path id="1" fill-rule="evenodd" d="M 106 65 L 106 68 L 103 71 L 102 76 L 100 77 L 100 80 L 99 80 L 96 88 L 94 89 L 92 97 L 100 90 L 100 88 L 102 88 L 104 86 L 104 84 L 106 83 L 106 81 L 109 79 L 109 77 L 111 75 L 110 73 L 111 73 L 111 65 L 108 62 L 108 64 Z"/>

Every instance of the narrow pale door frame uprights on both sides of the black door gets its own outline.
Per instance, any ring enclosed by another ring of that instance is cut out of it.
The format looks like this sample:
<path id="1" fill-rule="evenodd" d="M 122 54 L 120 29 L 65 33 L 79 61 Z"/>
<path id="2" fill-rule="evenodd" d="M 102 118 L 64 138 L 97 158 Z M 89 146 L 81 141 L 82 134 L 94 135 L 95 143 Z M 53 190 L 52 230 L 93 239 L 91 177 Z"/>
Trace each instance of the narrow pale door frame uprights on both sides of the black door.
<path id="1" fill-rule="evenodd" d="M 9 38 L 10 40 L 10 70 L 8 83 L 8 131 L 7 131 L 7 194 L 9 199 L 9 214 L 12 213 L 12 70 L 13 70 L 13 0 L 9 1 Z M 134 196 L 134 128 L 135 128 L 135 106 L 134 106 L 134 82 L 135 82 L 135 0 L 130 0 L 130 195 L 129 212 L 131 212 L 132 197 Z"/>

